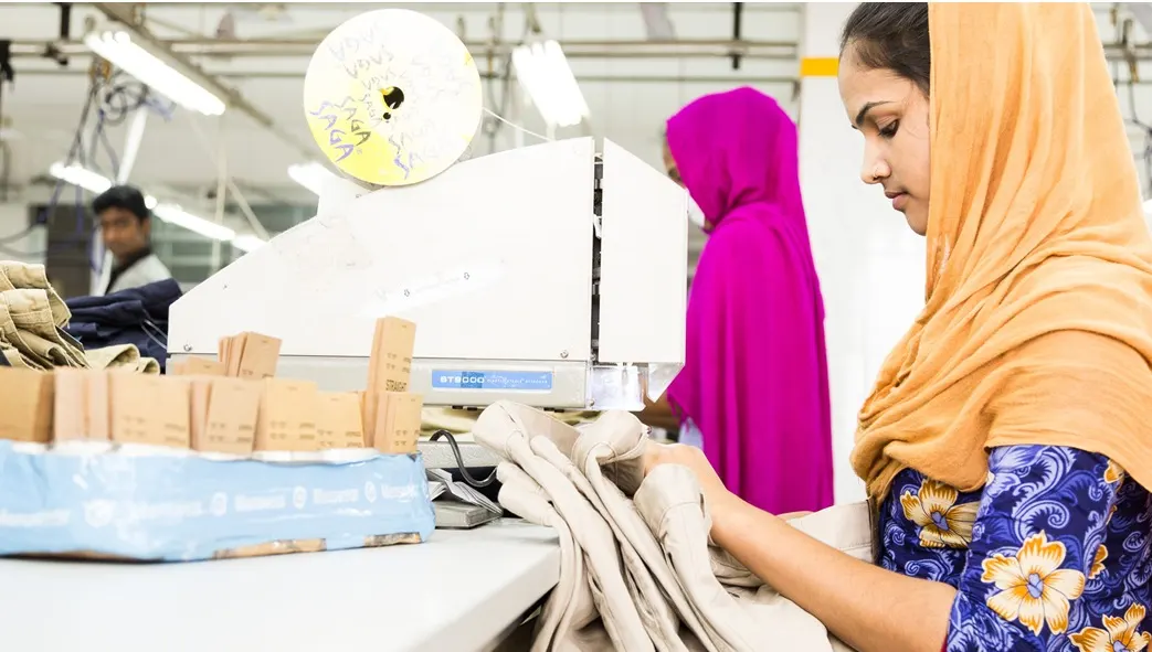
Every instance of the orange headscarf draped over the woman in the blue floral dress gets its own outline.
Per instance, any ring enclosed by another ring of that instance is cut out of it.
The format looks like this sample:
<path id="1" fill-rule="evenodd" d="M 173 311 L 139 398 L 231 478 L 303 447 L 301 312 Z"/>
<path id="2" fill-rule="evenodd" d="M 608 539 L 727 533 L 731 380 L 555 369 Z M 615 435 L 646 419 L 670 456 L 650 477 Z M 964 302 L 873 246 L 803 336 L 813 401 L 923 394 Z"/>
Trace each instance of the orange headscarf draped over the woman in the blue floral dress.
<path id="1" fill-rule="evenodd" d="M 1070 446 L 1152 489 L 1152 237 L 1087 5 L 932 3 L 926 306 L 852 466 L 979 489 L 987 450 Z"/>

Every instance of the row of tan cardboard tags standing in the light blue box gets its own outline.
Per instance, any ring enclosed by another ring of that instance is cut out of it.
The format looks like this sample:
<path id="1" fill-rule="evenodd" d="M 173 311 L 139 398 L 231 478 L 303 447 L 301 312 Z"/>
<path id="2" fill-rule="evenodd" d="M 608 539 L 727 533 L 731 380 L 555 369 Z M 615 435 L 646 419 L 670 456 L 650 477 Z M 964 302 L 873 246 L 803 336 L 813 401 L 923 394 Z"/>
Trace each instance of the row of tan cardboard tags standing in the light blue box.
<path id="1" fill-rule="evenodd" d="M 378 321 L 363 392 L 275 377 L 280 340 L 255 332 L 221 339 L 219 360 L 174 362 L 170 376 L 0 368 L 0 438 L 255 453 L 267 461 L 320 460 L 306 453 L 341 448 L 415 453 L 423 407 L 407 391 L 415 335 L 412 322 Z"/>

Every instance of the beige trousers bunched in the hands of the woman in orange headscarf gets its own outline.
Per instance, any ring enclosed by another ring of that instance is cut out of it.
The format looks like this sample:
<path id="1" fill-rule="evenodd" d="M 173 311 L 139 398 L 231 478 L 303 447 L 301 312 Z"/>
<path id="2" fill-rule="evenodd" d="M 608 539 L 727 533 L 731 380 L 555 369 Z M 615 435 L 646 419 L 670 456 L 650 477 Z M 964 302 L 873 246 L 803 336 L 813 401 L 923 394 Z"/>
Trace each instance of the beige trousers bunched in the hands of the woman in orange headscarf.
<path id="1" fill-rule="evenodd" d="M 691 470 L 662 465 L 644 477 L 649 429 L 631 413 L 573 427 L 500 401 L 473 435 L 503 460 L 505 509 L 559 536 L 560 581 L 535 621 L 533 652 L 849 650 L 712 545 Z M 872 559 L 866 504 L 790 523 Z"/>

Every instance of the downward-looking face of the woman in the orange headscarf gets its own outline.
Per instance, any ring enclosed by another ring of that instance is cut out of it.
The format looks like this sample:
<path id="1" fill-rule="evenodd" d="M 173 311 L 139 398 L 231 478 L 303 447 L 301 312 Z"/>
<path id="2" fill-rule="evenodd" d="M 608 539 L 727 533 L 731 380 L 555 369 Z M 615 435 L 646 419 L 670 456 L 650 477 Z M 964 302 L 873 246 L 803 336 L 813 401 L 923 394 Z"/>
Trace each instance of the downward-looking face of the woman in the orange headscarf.
<path id="1" fill-rule="evenodd" d="M 849 46 L 840 62 L 840 98 L 864 135 L 861 178 L 880 184 L 892 207 L 919 235 L 929 229 L 929 99 L 890 70 L 864 69 Z"/>

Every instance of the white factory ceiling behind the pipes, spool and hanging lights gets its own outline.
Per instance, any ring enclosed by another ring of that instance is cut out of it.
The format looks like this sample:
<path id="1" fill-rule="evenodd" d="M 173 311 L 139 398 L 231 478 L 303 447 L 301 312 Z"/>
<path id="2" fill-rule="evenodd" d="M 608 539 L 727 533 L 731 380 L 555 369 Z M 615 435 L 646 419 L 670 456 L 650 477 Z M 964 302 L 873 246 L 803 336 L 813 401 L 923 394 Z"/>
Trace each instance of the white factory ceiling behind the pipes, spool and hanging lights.
<path id="1" fill-rule="evenodd" d="M 221 118 L 209 118 L 177 110 L 165 123 L 159 117 L 150 121 L 131 182 L 153 187 L 172 187 L 204 197 L 217 186 L 218 166 L 226 166 L 228 175 L 250 193 L 264 193 L 281 200 L 310 200 L 311 195 L 296 186 L 287 176 L 289 163 L 302 162 L 305 154 L 318 149 L 305 129 L 301 95 L 304 70 L 309 62 L 311 44 L 351 16 L 379 7 L 397 5 L 372 3 L 288 3 L 281 20 L 266 20 L 252 8 L 237 5 L 213 3 L 149 3 L 145 24 L 165 39 L 207 39 L 227 10 L 236 18 L 237 37 L 251 43 L 276 39 L 290 41 L 293 47 L 279 47 L 280 55 L 243 55 L 232 57 L 192 56 L 203 69 L 238 91 L 252 106 L 272 118 L 280 136 L 259 126 L 238 110 L 229 110 Z M 483 43 L 495 39 L 516 43 L 523 34 L 524 5 L 508 3 L 503 29 L 494 34 L 490 21 L 497 15 L 497 3 L 434 3 L 404 5 L 418 8 L 460 33 L 464 39 Z M 1101 33 L 1113 40 L 1113 28 L 1107 24 L 1108 7 L 1098 5 Z M 659 132 L 665 118 L 691 99 L 707 92 L 749 84 L 776 97 L 794 109 L 794 87 L 797 61 L 782 59 L 745 59 L 740 70 L 733 69 L 727 56 L 664 56 L 636 59 L 620 54 L 621 43 L 636 44 L 645 39 L 644 23 L 636 3 L 540 3 L 536 6 L 539 23 L 546 36 L 563 41 L 607 41 L 597 47 L 600 55 L 571 56 L 570 62 L 581 80 L 581 87 L 591 109 L 591 129 L 597 136 L 608 137 L 626 148 L 659 166 Z M 745 3 L 742 36 L 753 41 L 793 44 L 799 33 L 801 7 L 796 3 Z M 683 2 L 670 5 L 670 17 L 681 39 L 710 39 L 726 41 L 733 37 L 733 3 Z M 86 20 L 107 25 L 106 17 L 94 6 L 76 5 L 73 8 L 70 37 L 78 40 Z M 6 3 L 0 21 L 0 38 L 12 38 L 24 49 L 56 39 L 60 10 L 52 3 Z M 179 25 L 179 28 L 177 28 Z M 1143 31 L 1135 37 L 1146 40 Z M 615 45 L 614 45 L 615 44 Z M 272 47 L 272 46 L 268 46 Z M 295 54 L 287 52 L 295 51 Z M 667 49 L 667 48 L 665 48 Z M 265 51 L 266 52 L 266 51 Z M 473 47 L 473 55 L 482 71 L 488 69 L 488 57 L 483 48 Z M 13 149 L 9 184 L 20 197 L 20 189 L 41 176 L 53 161 L 61 160 L 68 151 L 79 117 L 88 85 L 85 70 L 90 57 L 75 55 L 67 67 L 55 62 L 20 56 L 14 59 L 16 79 L 6 85 L 2 97 L 5 133 Z M 492 61 L 492 70 L 500 71 L 502 61 Z M 1123 76 L 1127 76 L 1124 74 Z M 1152 69 L 1145 75 L 1152 80 Z M 499 98 L 500 82 L 490 82 L 491 93 Z M 1143 120 L 1152 118 L 1152 92 L 1147 85 L 1136 87 L 1136 109 Z M 1122 94 L 1127 107 L 1127 95 Z M 498 108 L 490 106 L 490 108 Z M 1130 113 L 1126 109 L 1126 113 Z M 541 131 L 535 114 L 520 122 L 528 129 Z M 579 133 L 578 130 L 560 136 Z M 1134 131 L 1134 136 L 1140 135 Z M 124 128 L 112 128 L 109 140 L 122 147 Z M 531 140 L 531 139 L 529 139 Z M 509 129 L 502 129 L 495 149 L 511 146 Z M 492 148 L 482 138 L 478 151 Z M 223 156 L 221 156 L 221 152 Z M 253 201 L 256 197 L 250 198 Z"/>

